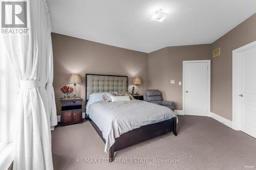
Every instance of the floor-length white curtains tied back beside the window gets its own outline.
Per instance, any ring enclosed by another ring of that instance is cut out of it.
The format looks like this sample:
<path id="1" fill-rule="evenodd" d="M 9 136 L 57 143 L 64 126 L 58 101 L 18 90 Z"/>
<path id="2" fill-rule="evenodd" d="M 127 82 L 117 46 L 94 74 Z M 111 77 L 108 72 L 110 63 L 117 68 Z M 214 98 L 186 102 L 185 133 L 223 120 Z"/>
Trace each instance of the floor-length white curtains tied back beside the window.
<path id="1" fill-rule="evenodd" d="M 27 27 L 28 34 L 3 36 L 20 84 L 15 104 L 13 169 L 53 169 L 50 127 L 57 124 L 57 117 L 46 0 L 27 1 Z"/>

